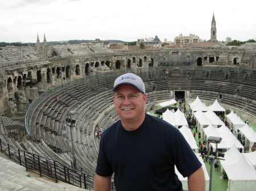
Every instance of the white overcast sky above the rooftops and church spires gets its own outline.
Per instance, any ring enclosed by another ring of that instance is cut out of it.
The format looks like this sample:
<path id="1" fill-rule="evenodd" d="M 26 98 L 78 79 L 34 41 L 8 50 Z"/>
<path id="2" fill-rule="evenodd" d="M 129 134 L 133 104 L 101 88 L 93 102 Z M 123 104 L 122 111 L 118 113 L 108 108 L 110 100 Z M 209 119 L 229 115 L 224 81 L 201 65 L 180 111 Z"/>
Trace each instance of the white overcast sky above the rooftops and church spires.
<path id="1" fill-rule="evenodd" d="M 256 38 L 255 0 L 0 0 L 0 41 L 123 40 L 155 37 L 174 41 L 193 33 L 217 40 Z"/>

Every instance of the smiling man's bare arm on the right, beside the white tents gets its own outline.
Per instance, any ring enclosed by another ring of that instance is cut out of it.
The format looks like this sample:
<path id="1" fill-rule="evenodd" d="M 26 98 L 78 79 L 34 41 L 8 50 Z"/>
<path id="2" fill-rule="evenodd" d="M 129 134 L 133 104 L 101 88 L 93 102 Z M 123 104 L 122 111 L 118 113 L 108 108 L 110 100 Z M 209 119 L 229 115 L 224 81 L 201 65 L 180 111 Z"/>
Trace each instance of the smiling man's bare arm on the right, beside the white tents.
<path id="1" fill-rule="evenodd" d="M 205 191 L 205 179 L 203 168 L 200 167 L 188 176 L 188 190 L 189 191 Z"/>

